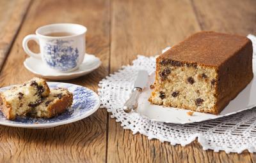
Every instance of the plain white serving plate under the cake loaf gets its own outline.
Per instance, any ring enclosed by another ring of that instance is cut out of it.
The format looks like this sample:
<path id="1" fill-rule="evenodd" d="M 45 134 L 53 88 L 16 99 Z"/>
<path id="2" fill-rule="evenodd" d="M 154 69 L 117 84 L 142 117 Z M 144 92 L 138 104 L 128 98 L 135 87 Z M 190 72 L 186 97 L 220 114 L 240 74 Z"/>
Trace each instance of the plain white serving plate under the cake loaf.
<path id="1" fill-rule="evenodd" d="M 256 61 L 253 59 L 254 76 L 256 74 L 255 66 Z M 194 112 L 192 116 L 189 116 L 189 110 L 158 106 L 148 102 L 148 97 L 152 92 L 150 85 L 154 83 L 154 76 L 155 74 L 152 74 L 148 78 L 147 87 L 145 87 L 141 93 L 138 101 L 138 109 L 136 111 L 142 117 L 148 118 L 150 120 L 172 124 L 189 124 L 193 122 L 202 122 L 205 120 L 225 117 L 244 110 L 252 109 L 256 106 L 256 78 L 253 78 L 253 80 L 246 86 L 246 88 L 243 89 L 235 99 L 230 101 L 230 103 L 225 107 L 223 111 L 221 111 L 219 115 Z"/>

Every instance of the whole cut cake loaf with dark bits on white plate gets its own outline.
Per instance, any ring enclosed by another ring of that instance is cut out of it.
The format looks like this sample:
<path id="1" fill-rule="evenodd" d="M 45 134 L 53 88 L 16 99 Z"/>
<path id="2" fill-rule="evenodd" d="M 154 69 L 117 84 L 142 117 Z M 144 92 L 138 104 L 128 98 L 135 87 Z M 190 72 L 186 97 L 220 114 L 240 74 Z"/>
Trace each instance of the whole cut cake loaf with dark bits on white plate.
<path id="1" fill-rule="evenodd" d="M 156 59 L 153 104 L 218 114 L 253 78 L 252 42 L 202 31 Z"/>

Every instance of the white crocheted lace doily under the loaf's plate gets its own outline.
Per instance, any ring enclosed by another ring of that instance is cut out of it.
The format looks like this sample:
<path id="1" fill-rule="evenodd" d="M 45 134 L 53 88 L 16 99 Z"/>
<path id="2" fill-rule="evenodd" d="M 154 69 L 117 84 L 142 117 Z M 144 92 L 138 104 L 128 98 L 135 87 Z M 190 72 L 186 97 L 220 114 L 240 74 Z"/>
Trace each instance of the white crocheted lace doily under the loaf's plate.
<path id="1" fill-rule="evenodd" d="M 253 41 L 255 55 L 256 37 L 248 35 Z M 241 153 L 243 150 L 256 152 L 256 108 L 242 111 L 235 115 L 193 124 L 165 124 L 141 117 L 138 113 L 125 113 L 122 107 L 131 93 L 139 69 L 155 71 L 155 57 L 138 55 L 132 66 L 123 66 L 118 72 L 110 74 L 99 83 L 99 96 L 102 108 L 111 112 L 111 118 L 121 122 L 124 129 L 131 129 L 133 134 L 140 132 L 148 139 L 168 141 L 171 145 L 188 145 L 196 138 L 204 150 L 226 153 Z"/>

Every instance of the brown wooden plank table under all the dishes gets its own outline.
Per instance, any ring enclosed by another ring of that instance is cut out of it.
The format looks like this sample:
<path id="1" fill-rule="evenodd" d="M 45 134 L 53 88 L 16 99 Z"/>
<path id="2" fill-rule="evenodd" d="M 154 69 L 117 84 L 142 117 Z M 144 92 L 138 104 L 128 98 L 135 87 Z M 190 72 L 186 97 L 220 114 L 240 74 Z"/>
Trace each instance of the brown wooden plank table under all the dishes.
<path id="1" fill-rule="evenodd" d="M 22 39 L 37 27 L 71 22 L 88 27 L 86 51 L 102 60 L 91 74 L 67 80 L 97 91 L 97 83 L 138 53 L 156 55 L 201 30 L 256 34 L 256 1 L 96 0 L 0 1 L 0 87 L 29 80 Z M 38 51 L 38 46 L 31 43 Z M 256 155 L 204 151 L 132 135 L 99 109 L 51 129 L 0 126 L 0 162 L 256 162 Z"/>

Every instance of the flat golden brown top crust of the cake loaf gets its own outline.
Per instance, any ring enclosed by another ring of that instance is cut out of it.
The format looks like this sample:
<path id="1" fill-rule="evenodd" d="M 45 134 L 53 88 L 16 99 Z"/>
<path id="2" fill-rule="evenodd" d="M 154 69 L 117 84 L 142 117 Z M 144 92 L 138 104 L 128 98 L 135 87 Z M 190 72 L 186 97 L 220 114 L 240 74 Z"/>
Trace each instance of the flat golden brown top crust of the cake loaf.
<path id="1" fill-rule="evenodd" d="M 159 59 L 172 59 L 207 66 L 220 66 L 239 52 L 250 39 L 235 34 L 197 32 L 170 48 Z M 236 47 L 236 48 L 234 48 Z"/>

